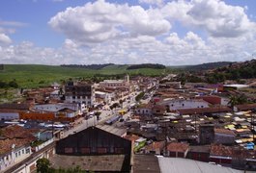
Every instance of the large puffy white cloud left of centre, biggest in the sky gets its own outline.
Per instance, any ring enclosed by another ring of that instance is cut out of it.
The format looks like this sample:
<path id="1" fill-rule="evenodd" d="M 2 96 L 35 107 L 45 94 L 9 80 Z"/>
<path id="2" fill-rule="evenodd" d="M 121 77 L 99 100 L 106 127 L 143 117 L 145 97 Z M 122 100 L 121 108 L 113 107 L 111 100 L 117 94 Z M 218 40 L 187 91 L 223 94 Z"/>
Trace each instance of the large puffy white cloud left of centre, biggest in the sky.
<path id="1" fill-rule="evenodd" d="M 99 0 L 83 7 L 68 8 L 48 22 L 67 37 L 84 43 L 98 43 L 117 37 L 159 36 L 171 25 L 158 10 L 116 5 Z"/>

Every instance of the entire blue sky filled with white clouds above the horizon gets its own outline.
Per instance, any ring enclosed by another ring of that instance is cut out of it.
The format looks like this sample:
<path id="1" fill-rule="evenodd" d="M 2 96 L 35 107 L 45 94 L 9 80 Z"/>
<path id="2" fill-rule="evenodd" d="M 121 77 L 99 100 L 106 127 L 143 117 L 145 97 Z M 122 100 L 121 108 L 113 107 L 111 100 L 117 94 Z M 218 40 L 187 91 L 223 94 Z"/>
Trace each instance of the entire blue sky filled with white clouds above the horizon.
<path id="1" fill-rule="evenodd" d="M 0 63 L 182 65 L 255 57 L 255 0 L 0 1 Z"/>

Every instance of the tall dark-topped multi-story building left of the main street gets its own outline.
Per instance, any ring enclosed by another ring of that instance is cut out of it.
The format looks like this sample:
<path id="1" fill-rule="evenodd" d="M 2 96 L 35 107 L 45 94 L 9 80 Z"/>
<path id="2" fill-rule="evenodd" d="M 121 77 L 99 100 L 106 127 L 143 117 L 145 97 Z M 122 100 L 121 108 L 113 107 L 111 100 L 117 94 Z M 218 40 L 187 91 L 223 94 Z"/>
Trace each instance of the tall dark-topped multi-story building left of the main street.
<path id="1" fill-rule="evenodd" d="M 65 86 L 65 101 L 66 103 L 80 103 L 87 107 L 94 106 L 95 102 L 95 87 L 93 84 L 69 82 Z"/>

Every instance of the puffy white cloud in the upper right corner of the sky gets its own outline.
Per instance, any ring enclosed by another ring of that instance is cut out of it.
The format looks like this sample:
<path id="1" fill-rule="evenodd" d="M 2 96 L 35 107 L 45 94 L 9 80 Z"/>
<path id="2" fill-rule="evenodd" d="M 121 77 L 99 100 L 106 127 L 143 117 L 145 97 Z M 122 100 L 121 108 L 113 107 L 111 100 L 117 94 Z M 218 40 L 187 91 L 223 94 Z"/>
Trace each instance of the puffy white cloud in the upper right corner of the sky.
<path id="1" fill-rule="evenodd" d="M 240 37 L 255 31 L 245 8 L 230 6 L 220 0 L 172 1 L 161 9 L 171 21 L 187 27 L 198 27 L 213 37 Z"/>

